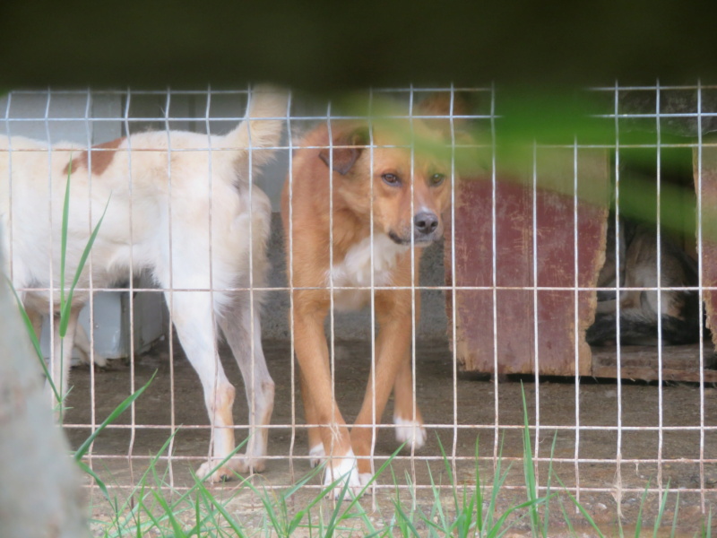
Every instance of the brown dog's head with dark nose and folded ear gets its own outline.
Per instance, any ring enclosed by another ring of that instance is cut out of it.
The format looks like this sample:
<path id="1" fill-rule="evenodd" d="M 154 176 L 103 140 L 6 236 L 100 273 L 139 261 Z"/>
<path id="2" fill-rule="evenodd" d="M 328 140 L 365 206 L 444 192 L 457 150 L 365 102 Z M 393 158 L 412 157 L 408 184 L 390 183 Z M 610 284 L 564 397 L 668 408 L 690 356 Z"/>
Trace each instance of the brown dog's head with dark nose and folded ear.
<path id="1" fill-rule="evenodd" d="M 440 104 L 445 106 L 442 108 Z M 450 207 L 451 100 L 437 94 L 408 119 L 375 120 L 339 126 L 332 148 L 319 158 L 333 169 L 334 192 L 359 218 L 394 242 L 427 245 L 443 237 L 443 215 Z M 456 113 L 454 108 L 454 114 Z M 434 117 L 435 116 L 435 117 Z"/>

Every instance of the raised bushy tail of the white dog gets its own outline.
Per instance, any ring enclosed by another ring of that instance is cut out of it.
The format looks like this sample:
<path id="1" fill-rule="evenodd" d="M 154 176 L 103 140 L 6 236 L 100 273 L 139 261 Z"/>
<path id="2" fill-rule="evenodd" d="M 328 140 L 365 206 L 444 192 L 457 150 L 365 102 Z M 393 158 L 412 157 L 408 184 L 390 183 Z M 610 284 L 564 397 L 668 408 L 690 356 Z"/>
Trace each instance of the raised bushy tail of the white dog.
<path id="1" fill-rule="evenodd" d="M 244 120 L 224 137 L 227 148 L 237 150 L 235 159 L 251 152 L 253 166 L 261 166 L 272 158 L 272 151 L 281 142 L 287 116 L 288 91 L 269 85 L 255 86 L 249 92 Z"/>

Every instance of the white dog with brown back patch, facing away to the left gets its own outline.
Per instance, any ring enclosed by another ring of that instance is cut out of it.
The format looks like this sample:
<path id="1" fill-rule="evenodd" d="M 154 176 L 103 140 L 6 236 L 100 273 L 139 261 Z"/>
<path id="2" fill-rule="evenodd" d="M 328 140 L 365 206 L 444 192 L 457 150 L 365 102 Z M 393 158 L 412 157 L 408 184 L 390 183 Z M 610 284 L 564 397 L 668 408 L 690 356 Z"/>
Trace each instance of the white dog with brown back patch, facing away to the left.
<path id="1" fill-rule="evenodd" d="M 262 148 L 279 143 L 279 118 L 286 115 L 286 106 L 285 93 L 257 88 L 249 95 L 245 120 L 225 136 L 146 132 L 90 151 L 70 143 L 49 146 L 19 136 L 0 137 L 5 270 L 30 310 L 48 312 L 52 286 L 58 312 L 68 176 L 66 287 L 107 206 L 91 251 L 91 271 L 86 265 L 73 296 L 62 353 L 55 335 L 51 374 L 63 393 L 90 278 L 95 288 L 102 288 L 149 269 L 165 290 L 179 341 L 202 380 L 213 447 L 198 473 L 207 476 L 235 447 L 235 390 L 217 353 L 215 321 L 220 325 L 245 378 L 250 438 L 246 456 L 232 457 L 209 476 L 212 482 L 232 471 L 261 471 L 266 455 L 268 431 L 261 427 L 272 415 L 274 384 L 263 357 L 259 293 L 249 291 L 249 285 L 263 286 L 271 205 L 260 189 L 250 188 L 249 178 L 272 157 L 272 151 Z M 59 324 L 54 325 L 57 332 Z"/>

